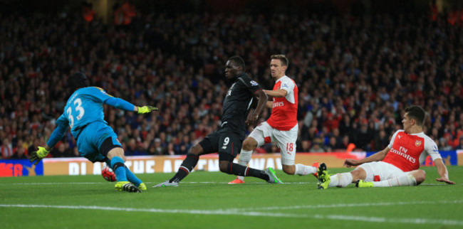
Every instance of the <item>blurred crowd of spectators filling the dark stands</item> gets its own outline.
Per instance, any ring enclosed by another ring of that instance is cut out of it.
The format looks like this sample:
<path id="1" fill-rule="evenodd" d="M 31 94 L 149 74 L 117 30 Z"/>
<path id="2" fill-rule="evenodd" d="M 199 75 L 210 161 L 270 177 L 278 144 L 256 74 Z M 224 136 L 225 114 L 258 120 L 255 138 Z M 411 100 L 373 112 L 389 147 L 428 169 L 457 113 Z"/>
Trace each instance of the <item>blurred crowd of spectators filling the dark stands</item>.
<path id="1" fill-rule="evenodd" d="M 128 25 L 81 12 L 0 14 L 1 158 L 46 144 L 78 71 L 110 95 L 159 107 L 137 115 L 105 105 L 126 155 L 187 154 L 220 124 L 227 59 L 241 55 L 270 90 L 276 53 L 288 57 L 286 75 L 299 88 L 298 152 L 384 149 L 409 105 L 425 108 L 424 130 L 439 150 L 463 149 L 462 26 L 431 13 L 153 11 L 134 13 Z M 70 132 L 49 156 L 78 156 Z"/>

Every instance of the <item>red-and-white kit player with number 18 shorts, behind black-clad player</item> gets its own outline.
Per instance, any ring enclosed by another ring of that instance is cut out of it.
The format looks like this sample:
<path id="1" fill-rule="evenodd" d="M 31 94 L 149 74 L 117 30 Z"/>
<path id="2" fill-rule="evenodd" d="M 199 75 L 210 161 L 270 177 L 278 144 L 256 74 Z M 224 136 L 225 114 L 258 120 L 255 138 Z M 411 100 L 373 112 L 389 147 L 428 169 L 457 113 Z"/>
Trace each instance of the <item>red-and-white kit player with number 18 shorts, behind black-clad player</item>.
<path id="1" fill-rule="evenodd" d="M 296 139 L 298 138 L 298 87 L 294 80 L 285 75 L 288 58 L 285 55 L 271 55 L 270 70 L 274 78 L 274 90 L 264 90 L 273 101 L 266 106 L 271 108 L 271 115 L 266 122 L 259 124 L 249 137 L 244 139 L 239 154 L 238 164 L 246 166 L 251 161 L 251 154 L 256 147 L 275 142 L 281 152 L 281 166 L 286 174 L 316 175 L 318 164 L 306 166 L 294 164 L 296 157 Z M 244 183 L 244 176 L 229 183 Z"/>

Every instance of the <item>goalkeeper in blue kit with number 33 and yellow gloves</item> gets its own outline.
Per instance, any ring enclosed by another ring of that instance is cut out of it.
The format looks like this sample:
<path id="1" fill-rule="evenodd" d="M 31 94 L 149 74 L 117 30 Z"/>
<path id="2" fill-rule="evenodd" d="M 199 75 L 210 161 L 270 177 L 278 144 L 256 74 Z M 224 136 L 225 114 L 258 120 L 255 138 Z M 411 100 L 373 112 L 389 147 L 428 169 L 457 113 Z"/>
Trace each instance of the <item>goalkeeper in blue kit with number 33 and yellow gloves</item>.
<path id="1" fill-rule="evenodd" d="M 56 120 L 57 127 L 48 139 L 45 147 L 38 147 L 31 153 L 30 161 L 38 164 L 71 127 L 76 139 L 80 156 L 89 161 L 106 162 L 115 172 L 117 191 L 141 192 L 146 190 L 145 183 L 125 166 L 122 145 L 114 130 L 108 126 L 103 114 L 103 104 L 118 109 L 145 114 L 157 110 L 157 107 L 137 107 L 130 102 L 108 95 L 99 87 L 88 87 L 83 73 L 74 73 L 68 79 L 68 86 L 74 90 L 64 107 L 64 113 Z"/>

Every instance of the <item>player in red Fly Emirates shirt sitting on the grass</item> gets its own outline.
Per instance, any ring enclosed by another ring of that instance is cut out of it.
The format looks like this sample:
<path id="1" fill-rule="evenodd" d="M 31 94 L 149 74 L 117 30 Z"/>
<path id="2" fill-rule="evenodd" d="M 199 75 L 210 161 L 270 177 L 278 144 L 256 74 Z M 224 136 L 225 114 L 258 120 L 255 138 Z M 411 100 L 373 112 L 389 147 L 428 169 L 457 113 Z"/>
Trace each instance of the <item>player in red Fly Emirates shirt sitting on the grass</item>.
<path id="1" fill-rule="evenodd" d="M 442 162 L 437 145 L 423 133 L 423 122 L 425 110 L 422 107 L 407 107 L 402 119 L 403 129 L 395 132 L 385 149 L 365 159 L 345 159 L 345 166 L 358 166 L 348 173 L 330 176 L 326 164 L 322 163 L 318 167 L 318 188 L 345 187 L 353 182 L 359 188 L 416 186 L 426 179 L 420 164 L 428 155 L 440 176 L 436 181 L 454 184 L 449 180 L 447 167 Z"/>

